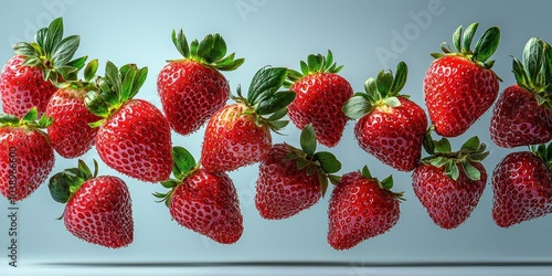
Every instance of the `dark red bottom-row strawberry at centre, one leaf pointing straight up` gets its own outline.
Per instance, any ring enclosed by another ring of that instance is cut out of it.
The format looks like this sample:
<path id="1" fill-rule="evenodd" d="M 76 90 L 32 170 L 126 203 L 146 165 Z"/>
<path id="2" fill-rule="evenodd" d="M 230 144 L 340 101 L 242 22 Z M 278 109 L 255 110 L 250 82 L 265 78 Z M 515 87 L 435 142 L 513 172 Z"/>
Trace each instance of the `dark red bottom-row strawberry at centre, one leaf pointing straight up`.
<path id="1" fill-rule="evenodd" d="M 290 217 L 316 204 L 328 189 L 328 179 L 341 163 L 327 151 L 316 151 L 312 125 L 300 136 L 301 149 L 287 144 L 274 145 L 261 162 L 256 181 L 255 206 L 268 220 Z"/>

